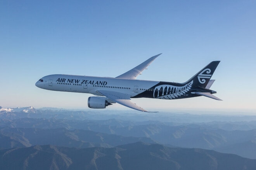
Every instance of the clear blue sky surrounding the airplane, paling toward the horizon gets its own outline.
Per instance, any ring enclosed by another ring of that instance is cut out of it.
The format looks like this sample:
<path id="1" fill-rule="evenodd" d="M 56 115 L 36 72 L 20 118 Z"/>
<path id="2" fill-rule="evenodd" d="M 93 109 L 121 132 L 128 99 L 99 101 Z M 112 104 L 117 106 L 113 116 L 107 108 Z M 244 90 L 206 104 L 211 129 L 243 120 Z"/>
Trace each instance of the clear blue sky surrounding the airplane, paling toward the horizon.
<path id="1" fill-rule="evenodd" d="M 138 79 L 185 82 L 220 60 L 206 97 L 132 99 L 147 110 L 256 112 L 256 1 L 1 1 L 0 106 L 87 109 L 83 93 L 43 90 L 45 75 L 115 77 L 163 53 Z M 115 104 L 107 109 L 126 109 Z"/>

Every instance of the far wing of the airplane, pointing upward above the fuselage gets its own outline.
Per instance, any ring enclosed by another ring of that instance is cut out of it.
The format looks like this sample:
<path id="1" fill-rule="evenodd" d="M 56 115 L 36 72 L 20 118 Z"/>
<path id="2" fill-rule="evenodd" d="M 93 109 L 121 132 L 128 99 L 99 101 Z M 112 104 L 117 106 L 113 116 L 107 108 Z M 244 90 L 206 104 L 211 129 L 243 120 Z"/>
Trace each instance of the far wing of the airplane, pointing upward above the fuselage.
<path id="1" fill-rule="evenodd" d="M 116 78 L 136 79 L 137 76 L 140 75 L 142 73 L 142 71 L 145 70 L 145 68 L 147 68 L 147 66 L 149 66 L 150 63 L 152 63 L 154 61 L 154 59 L 156 59 L 161 54 L 157 54 L 156 56 L 153 56 L 153 57 L 147 59 L 146 61 L 144 61 L 140 65 L 138 65 L 135 68 L 127 71 L 126 73 L 123 73 L 122 75 L 117 76 Z"/>

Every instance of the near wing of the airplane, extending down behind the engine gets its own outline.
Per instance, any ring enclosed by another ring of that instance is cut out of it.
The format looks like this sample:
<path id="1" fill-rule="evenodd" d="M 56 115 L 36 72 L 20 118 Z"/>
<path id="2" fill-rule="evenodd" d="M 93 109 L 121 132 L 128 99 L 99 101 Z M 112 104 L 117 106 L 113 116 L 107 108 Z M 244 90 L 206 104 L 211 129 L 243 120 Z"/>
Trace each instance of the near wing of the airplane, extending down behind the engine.
<path id="1" fill-rule="evenodd" d="M 119 103 L 121 105 L 124 105 L 126 107 L 130 107 L 131 109 L 140 110 L 143 112 L 149 112 L 142 107 L 139 107 L 135 103 L 131 102 L 130 95 L 125 93 L 118 93 L 118 92 L 112 92 L 107 90 L 97 90 L 98 93 L 106 96 L 108 99 L 112 100 L 113 102 Z"/>

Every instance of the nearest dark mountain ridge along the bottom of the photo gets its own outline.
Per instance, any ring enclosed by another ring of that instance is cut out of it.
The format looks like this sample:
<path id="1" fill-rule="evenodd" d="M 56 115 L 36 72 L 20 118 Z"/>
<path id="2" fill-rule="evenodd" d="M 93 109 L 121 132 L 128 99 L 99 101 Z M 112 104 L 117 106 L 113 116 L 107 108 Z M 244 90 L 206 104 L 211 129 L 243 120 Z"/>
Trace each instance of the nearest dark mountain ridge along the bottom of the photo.
<path id="1" fill-rule="evenodd" d="M 237 155 L 141 142 L 83 149 L 36 145 L 0 150 L 0 156 L 1 170 L 254 170 L 256 167 L 256 160 Z"/>

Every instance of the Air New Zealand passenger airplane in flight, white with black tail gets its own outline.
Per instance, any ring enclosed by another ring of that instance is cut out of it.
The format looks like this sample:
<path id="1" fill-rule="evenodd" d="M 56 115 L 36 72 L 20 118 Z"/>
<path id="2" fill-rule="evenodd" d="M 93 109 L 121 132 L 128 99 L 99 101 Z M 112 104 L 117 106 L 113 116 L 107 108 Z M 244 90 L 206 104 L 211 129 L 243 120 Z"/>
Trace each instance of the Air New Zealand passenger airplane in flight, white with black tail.
<path id="1" fill-rule="evenodd" d="M 88 107 L 93 109 L 104 109 L 118 103 L 131 109 L 149 112 L 131 102 L 132 98 L 173 100 L 205 96 L 221 100 L 213 95 L 216 91 L 209 89 L 215 81 L 211 80 L 211 76 L 220 61 L 212 61 L 184 83 L 137 80 L 137 76 L 161 54 L 115 78 L 55 74 L 40 78 L 35 85 L 46 90 L 96 95 L 88 98 Z"/>

